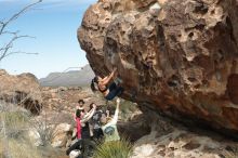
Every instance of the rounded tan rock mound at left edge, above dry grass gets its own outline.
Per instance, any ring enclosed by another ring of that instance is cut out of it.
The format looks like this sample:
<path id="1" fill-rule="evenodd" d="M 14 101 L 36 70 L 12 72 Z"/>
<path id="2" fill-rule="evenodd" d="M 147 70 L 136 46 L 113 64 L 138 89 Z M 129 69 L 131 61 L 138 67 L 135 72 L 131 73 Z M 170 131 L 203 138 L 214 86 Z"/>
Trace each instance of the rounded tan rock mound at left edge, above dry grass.
<path id="1" fill-rule="evenodd" d="M 11 76 L 0 69 L 0 101 L 18 104 L 32 114 L 39 114 L 42 100 L 37 78 L 31 74 Z"/>

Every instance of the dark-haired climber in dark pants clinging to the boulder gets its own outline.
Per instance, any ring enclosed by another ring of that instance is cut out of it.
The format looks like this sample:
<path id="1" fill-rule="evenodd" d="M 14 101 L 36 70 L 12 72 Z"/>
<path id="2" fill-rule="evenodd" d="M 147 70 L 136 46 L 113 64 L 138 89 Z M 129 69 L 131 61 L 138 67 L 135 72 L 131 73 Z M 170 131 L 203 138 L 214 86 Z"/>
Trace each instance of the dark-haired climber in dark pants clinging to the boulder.
<path id="1" fill-rule="evenodd" d="M 117 69 L 114 68 L 113 73 L 105 78 L 102 78 L 100 76 L 94 77 L 94 79 L 91 82 L 91 89 L 92 91 L 98 90 L 100 92 L 103 93 L 104 97 L 107 101 L 114 100 L 116 96 L 120 95 L 123 93 L 123 88 L 119 85 L 121 79 L 117 78 L 113 83 L 109 84 L 110 80 L 116 76 Z M 97 89 L 95 88 L 95 84 L 97 84 Z M 109 84 L 109 87 L 108 87 Z"/>

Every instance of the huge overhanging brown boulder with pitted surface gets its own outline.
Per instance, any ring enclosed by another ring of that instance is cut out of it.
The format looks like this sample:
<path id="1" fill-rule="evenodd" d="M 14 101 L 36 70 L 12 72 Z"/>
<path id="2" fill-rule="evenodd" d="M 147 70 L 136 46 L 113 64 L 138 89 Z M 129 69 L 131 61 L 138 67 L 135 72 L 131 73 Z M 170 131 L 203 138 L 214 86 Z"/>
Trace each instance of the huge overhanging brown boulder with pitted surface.
<path id="1" fill-rule="evenodd" d="M 96 75 L 118 67 L 123 97 L 237 132 L 237 0 L 100 0 L 78 39 Z"/>

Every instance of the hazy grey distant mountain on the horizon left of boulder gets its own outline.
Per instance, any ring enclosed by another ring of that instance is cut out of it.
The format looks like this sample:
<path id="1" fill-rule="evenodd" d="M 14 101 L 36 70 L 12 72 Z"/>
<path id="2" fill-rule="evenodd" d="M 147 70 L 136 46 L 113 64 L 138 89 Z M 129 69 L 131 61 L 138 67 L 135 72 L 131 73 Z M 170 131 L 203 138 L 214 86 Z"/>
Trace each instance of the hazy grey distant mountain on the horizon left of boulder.
<path id="1" fill-rule="evenodd" d="M 92 68 L 87 65 L 81 70 L 51 73 L 48 77 L 39 79 L 39 82 L 42 87 L 82 87 L 90 84 L 94 76 Z"/>

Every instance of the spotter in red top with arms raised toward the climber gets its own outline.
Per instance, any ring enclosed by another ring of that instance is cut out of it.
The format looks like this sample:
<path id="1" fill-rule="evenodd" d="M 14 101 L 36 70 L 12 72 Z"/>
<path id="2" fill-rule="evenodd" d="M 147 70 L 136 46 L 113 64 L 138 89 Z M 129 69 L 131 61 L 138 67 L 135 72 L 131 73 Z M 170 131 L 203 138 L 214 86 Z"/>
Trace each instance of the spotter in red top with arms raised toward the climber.
<path id="1" fill-rule="evenodd" d="M 93 114 L 95 113 L 95 109 L 96 106 L 93 105 L 93 108 L 88 114 L 84 114 L 84 109 L 76 110 L 75 121 L 77 123 L 77 142 L 66 150 L 66 155 L 69 155 L 70 152 L 75 149 L 80 149 L 82 150 L 82 153 L 84 152 L 85 140 L 90 137 L 88 130 L 89 129 L 88 121 L 92 118 Z"/>

